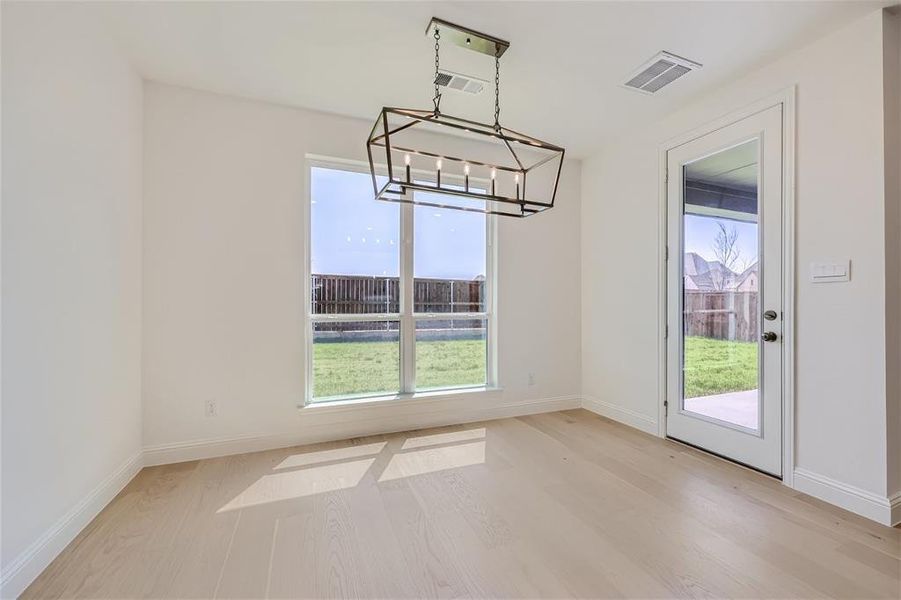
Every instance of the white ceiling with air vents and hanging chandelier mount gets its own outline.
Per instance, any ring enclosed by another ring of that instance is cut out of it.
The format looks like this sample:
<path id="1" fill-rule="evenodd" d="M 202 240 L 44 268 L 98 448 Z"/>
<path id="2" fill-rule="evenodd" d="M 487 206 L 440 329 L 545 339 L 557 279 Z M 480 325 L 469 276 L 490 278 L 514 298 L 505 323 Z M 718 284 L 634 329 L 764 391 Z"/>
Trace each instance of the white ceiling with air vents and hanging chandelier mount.
<path id="1" fill-rule="evenodd" d="M 374 119 L 431 106 L 433 15 L 511 42 L 501 122 L 575 156 L 890 0 L 848 2 L 146 2 L 85 5 L 148 79 Z M 704 65 L 654 96 L 620 87 L 659 50 Z M 453 46 L 442 66 L 493 81 Z M 493 90 L 444 112 L 491 121 Z"/>

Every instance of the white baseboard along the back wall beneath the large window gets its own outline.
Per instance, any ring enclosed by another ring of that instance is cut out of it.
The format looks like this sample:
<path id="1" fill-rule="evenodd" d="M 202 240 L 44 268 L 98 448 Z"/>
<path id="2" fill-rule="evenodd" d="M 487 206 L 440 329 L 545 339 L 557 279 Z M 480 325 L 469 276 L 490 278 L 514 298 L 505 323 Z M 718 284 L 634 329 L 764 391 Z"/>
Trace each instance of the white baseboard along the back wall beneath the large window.
<path id="1" fill-rule="evenodd" d="M 486 421 L 504 417 L 538 414 L 579 408 L 578 396 L 561 396 L 502 404 L 448 406 L 435 410 L 435 405 L 412 405 L 410 407 L 385 406 L 383 410 L 364 415 L 357 411 L 358 418 L 346 415 L 332 417 L 327 422 L 305 423 L 300 431 L 278 434 L 250 434 L 225 438 L 191 440 L 174 444 L 159 444 L 144 448 L 144 464 L 164 465 L 189 460 L 215 458 L 245 452 L 259 452 L 275 448 L 289 448 L 303 444 L 314 444 L 342 440 L 365 435 L 396 433 L 425 427 L 440 427 L 474 421 Z M 323 411 L 324 412 L 324 411 Z"/>

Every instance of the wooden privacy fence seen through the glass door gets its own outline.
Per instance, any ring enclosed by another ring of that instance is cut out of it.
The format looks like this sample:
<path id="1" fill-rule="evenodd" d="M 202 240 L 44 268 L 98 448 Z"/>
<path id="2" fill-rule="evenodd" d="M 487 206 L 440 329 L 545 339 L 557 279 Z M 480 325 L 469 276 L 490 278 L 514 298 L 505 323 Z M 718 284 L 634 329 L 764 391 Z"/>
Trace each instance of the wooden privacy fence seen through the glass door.
<path id="1" fill-rule="evenodd" d="M 757 292 L 686 291 L 685 335 L 755 342 L 760 336 Z"/>

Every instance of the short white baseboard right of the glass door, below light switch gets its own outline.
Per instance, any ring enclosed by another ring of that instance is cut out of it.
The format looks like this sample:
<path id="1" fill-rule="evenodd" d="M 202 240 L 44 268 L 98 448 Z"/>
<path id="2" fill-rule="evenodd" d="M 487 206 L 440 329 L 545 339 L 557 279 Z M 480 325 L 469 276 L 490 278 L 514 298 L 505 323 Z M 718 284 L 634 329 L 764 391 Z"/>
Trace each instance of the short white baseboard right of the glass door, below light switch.
<path id="1" fill-rule="evenodd" d="M 794 489 L 799 492 L 804 492 L 883 525 L 893 526 L 901 520 L 901 494 L 896 494 L 893 498 L 885 498 L 797 467 L 794 474 Z"/>

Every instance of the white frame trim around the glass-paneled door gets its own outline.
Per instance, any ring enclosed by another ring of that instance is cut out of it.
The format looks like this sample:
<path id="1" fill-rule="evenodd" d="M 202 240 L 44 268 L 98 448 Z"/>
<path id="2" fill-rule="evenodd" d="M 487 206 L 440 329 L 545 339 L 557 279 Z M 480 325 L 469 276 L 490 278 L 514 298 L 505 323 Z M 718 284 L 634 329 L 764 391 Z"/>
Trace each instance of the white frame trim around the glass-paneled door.
<path id="1" fill-rule="evenodd" d="M 667 152 L 773 106 L 782 105 L 782 483 L 795 467 L 795 86 L 663 142 L 658 148 L 657 435 L 666 437 Z"/>

